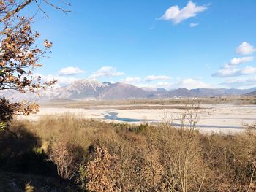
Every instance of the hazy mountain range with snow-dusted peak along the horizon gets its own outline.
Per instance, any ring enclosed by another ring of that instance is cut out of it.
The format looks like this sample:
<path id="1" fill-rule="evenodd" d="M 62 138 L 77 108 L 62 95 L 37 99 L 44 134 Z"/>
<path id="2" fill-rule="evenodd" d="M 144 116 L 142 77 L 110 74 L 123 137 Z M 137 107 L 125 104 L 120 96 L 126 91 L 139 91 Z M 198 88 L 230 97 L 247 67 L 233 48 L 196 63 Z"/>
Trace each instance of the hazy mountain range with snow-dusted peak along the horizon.
<path id="1" fill-rule="evenodd" d="M 139 88 L 123 82 L 98 82 L 96 80 L 78 80 L 64 87 L 55 88 L 42 95 L 42 99 L 157 99 L 173 97 L 203 97 L 203 96 L 238 96 L 250 95 L 256 92 L 256 88 L 178 88 L 166 90 L 165 88 Z"/>

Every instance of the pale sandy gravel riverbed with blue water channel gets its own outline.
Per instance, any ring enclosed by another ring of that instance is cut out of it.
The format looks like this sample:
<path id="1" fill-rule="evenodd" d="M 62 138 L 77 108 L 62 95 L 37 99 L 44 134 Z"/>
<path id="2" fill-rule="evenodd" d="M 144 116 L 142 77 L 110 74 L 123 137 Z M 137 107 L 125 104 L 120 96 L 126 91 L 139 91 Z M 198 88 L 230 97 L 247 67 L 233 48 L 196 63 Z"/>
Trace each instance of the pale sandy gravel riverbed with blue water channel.
<path id="1" fill-rule="evenodd" d="M 122 123 L 161 123 L 163 120 L 172 120 L 178 126 L 180 123 L 182 105 L 170 105 L 165 107 L 153 105 L 154 108 L 143 105 L 134 107 L 125 106 L 97 106 L 91 108 L 67 108 L 67 107 L 41 107 L 36 115 L 21 119 L 38 120 L 44 115 L 59 116 L 70 113 L 78 118 L 92 118 L 108 122 Z M 148 108 L 148 109 L 147 109 Z M 120 110 L 123 109 L 123 110 Z M 199 121 L 197 128 L 203 132 L 235 133 L 243 131 L 243 123 L 255 123 L 256 105 L 234 104 L 203 104 L 198 110 Z"/>

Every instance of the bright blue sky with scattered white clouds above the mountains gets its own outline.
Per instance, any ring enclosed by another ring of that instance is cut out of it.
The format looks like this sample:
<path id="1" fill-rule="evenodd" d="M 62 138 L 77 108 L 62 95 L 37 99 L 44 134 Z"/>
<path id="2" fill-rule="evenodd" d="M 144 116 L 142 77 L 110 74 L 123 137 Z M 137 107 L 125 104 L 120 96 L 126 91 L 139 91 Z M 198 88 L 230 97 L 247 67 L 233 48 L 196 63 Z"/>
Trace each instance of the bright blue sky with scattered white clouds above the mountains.
<path id="1" fill-rule="evenodd" d="M 256 87 L 255 0 L 76 0 L 42 5 L 33 27 L 53 42 L 36 73 L 151 88 Z M 34 13 L 33 13 L 34 14 Z"/>

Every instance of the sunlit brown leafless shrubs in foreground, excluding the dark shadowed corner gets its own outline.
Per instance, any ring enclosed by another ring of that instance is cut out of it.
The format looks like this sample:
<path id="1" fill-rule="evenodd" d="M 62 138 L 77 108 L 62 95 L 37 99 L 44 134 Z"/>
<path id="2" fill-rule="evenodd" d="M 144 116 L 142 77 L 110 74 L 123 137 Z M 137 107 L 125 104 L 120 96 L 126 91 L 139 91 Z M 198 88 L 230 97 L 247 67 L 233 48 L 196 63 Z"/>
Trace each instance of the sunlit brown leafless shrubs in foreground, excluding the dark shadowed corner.
<path id="1" fill-rule="evenodd" d="M 74 175 L 84 191 L 255 191 L 255 131 L 200 134 L 196 109 L 185 110 L 177 128 L 138 131 L 71 115 L 23 127 L 49 143 L 61 177 Z"/>

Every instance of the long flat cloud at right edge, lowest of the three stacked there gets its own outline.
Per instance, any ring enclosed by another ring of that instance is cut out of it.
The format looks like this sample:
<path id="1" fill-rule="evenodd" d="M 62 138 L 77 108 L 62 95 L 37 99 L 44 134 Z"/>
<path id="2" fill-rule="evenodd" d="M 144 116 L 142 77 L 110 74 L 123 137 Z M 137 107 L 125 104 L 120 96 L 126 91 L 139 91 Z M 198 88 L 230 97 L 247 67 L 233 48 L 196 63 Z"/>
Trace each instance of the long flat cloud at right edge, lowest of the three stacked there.
<path id="1" fill-rule="evenodd" d="M 218 72 L 212 74 L 213 77 L 235 77 L 246 74 L 255 74 L 256 67 L 246 66 L 244 69 L 221 69 Z"/>

